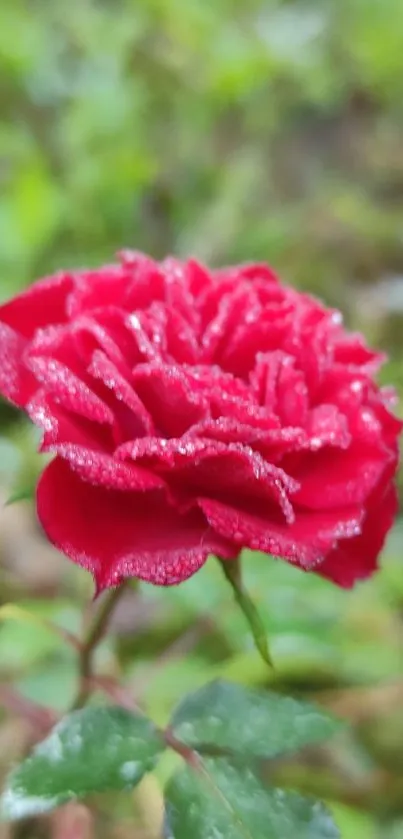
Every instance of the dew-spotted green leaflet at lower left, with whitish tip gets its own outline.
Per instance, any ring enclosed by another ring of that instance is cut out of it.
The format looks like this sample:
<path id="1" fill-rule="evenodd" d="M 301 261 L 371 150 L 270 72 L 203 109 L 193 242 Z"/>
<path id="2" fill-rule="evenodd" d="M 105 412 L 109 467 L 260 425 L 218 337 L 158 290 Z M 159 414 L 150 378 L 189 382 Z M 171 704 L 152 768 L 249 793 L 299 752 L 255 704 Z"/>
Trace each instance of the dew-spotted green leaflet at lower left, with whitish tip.
<path id="1" fill-rule="evenodd" d="M 14 821 L 90 793 L 131 788 L 163 749 L 146 717 L 119 707 L 75 711 L 9 775 L 1 818 Z"/>

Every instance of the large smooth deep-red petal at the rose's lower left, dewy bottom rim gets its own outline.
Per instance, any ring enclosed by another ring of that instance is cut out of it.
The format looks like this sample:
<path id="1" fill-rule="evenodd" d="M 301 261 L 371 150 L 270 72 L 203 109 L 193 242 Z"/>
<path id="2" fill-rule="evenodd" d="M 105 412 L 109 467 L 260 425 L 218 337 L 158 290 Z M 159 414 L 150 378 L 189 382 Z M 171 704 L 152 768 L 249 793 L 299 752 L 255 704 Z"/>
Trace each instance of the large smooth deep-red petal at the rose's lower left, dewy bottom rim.
<path id="1" fill-rule="evenodd" d="M 158 490 L 92 486 L 59 458 L 40 479 L 37 509 L 48 539 L 91 571 L 98 593 L 127 577 L 174 585 L 191 577 L 209 554 L 229 559 L 237 552 L 199 510 L 179 515 Z"/>

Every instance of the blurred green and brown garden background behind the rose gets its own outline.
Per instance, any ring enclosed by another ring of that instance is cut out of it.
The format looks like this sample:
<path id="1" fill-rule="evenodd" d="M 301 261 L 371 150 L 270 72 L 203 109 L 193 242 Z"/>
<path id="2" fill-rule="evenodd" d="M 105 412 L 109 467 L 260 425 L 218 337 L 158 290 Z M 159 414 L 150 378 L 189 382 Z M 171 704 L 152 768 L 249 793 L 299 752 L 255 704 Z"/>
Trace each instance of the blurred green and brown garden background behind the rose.
<path id="1" fill-rule="evenodd" d="M 267 260 L 387 349 L 403 392 L 402 0 L 5 0 L 0 75 L 0 299 L 123 246 Z M 5 500 L 38 463 L 32 431 L 0 411 Z M 343 839 L 401 839 L 402 546 L 398 524 L 382 571 L 351 593 L 250 557 L 274 673 L 213 560 L 177 590 L 128 594 L 99 667 L 161 720 L 217 674 L 315 696 L 351 728 L 285 775 L 330 801 Z M 0 511 L 0 563 L 1 603 L 80 630 L 90 581 L 45 544 L 29 502 Z M 63 709 L 75 657 L 4 620 L 11 679 Z M 33 733 L 1 719 L 3 772 Z M 158 807 L 153 786 L 96 801 L 95 833 L 84 812 L 77 837 L 151 839 Z M 57 818 L 1 829 L 67 837 Z"/>

